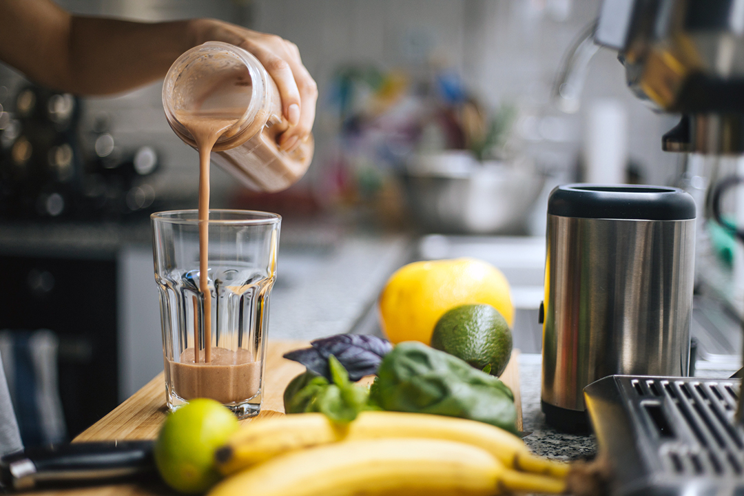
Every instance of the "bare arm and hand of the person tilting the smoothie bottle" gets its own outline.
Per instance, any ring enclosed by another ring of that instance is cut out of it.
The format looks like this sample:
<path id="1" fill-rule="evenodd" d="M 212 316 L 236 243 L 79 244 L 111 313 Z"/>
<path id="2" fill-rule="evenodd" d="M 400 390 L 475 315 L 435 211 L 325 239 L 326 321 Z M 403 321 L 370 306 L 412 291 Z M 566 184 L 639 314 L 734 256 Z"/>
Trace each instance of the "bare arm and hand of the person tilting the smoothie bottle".
<path id="1" fill-rule="evenodd" d="M 0 60 L 42 86 L 75 94 L 115 94 L 150 83 L 207 41 L 245 48 L 272 75 L 284 116 L 295 124 L 280 137 L 284 149 L 307 138 L 317 87 L 297 46 L 279 36 L 215 19 L 130 22 L 71 15 L 50 0 L 0 0 Z"/>

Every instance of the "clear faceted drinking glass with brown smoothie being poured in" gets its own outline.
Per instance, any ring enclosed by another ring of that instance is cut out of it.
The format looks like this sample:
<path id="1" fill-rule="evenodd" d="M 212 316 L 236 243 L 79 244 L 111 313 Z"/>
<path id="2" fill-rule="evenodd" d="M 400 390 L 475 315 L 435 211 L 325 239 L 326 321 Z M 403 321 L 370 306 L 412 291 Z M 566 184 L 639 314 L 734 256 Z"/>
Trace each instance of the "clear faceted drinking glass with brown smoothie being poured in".
<path id="1" fill-rule="evenodd" d="M 168 408 L 211 398 L 239 418 L 257 415 L 281 217 L 210 210 L 206 296 L 199 289 L 198 211 L 151 219 Z"/>

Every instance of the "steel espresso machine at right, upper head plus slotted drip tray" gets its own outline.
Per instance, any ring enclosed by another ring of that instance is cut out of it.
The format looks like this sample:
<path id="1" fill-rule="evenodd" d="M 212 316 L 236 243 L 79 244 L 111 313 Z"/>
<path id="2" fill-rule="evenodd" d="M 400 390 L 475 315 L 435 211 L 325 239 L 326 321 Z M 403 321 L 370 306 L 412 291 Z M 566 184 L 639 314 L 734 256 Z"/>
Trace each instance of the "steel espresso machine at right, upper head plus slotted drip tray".
<path id="1" fill-rule="evenodd" d="M 707 154 L 708 184 L 715 187 L 719 157 L 744 152 L 742 4 L 605 0 L 586 36 L 618 51 L 636 96 L 682 115 L 662 138 L 662 148 Z M 576 97 L 572 74 L 583 71 L 588 57 L 580 56 L 591 53 L 583 42 L 576 49 L 579 56 L 566 59 L 574 67 L 562 71 L 554 87 L 562 100 Z M 706 199 L 708 215 L 713 196 Z M 612 470 L 611 494 L 744 490 L 740 381 L 679 375 L 612 376 L 586 387 L 600 451 Z"/>

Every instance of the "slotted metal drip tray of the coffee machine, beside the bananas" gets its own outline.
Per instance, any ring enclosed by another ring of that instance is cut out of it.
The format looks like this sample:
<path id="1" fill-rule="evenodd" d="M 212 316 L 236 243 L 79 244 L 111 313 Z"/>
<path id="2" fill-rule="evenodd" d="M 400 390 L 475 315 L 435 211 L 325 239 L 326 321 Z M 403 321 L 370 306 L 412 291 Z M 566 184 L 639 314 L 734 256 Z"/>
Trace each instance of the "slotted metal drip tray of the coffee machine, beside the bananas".
<path id="1" fill-rule="evenodd" d="M 740 382 L 611 376 L 586 387 L 612 495 L 740 494 L 744 442 L 734 425 Z"/>

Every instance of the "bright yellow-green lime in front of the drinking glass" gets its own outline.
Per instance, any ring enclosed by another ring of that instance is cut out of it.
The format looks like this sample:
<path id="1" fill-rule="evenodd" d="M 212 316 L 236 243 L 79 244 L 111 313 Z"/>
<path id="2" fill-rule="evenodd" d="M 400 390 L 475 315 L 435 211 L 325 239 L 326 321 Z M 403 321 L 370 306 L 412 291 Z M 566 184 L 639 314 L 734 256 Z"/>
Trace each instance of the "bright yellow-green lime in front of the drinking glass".
<path id="1" fill-rule="evenodd" d="M 194 399 L 170 413 L 154 450 L 163 480 L 179 492 L 205 492 L 219 480 L 214 451 L 237 428 L 236 416 L 214 399 Z"/>

